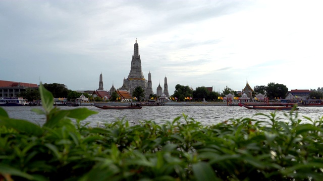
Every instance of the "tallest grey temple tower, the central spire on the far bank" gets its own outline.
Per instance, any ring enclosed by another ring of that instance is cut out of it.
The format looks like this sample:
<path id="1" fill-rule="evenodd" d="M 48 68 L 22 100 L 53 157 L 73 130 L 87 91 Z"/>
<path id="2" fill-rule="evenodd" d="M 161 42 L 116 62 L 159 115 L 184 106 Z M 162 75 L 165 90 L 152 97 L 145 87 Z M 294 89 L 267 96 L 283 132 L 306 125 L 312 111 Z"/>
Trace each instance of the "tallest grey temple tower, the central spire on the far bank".
<path id="1" fill-rule="evenodd" d="M 132 95 L 132 92 L 135 90 L 137 86 L 141 86 L 142 89 L 146 90 L 147 88 L 147 80 L 142 74 L 141 70 L 141 59 L 139 55 L 139 47 L 136 39 L 136 43 L 134 45 L 130 73 L 127 79 L 124 79 L 124 85 L 128 87 L 129 94 Z"/>

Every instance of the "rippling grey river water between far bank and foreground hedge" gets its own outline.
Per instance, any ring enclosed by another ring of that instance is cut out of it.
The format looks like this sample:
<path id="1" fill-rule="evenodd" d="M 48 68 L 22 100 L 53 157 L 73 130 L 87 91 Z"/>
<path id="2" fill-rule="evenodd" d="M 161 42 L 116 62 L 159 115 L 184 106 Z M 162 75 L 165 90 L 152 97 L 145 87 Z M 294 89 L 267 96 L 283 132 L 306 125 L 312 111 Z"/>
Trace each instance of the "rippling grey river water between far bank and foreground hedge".
<path id="1" fill-rule="evenodd" d="M 135 110 L 102 110 L 93 106 L 80 106 L 77 108 L 85 107 L 89 110 L 98 112 L 98 114 L 89 116 L 82 123 L 89 123 L 89 126 L 96 127 L 102 126 L 104 123 L 112 123 L 117 119 L 128 120 L 130 125 L 139 124 L 143 120 L 153 120 L 157 124 L 163 124 L 166 121 L 173 121 L 176 117 L 185 114 L 188 118 L 193 118 L 195 121 L 200 122 L 202 125 L 212 125 L 231 118 L 253 118 L 259 121 L 269 122 L 270 120 L 264 116 L 255 116 L 257 113 L 264 113 L 270 115 L 274 111 L 270 110 L 249 110 L 239 106 L 158 106 L 158 107 L 143 107 L 142 109 Z M 45 123 L 44 115 L 37 115 L 31 109 L 42 109 L 41 106 L 21 106 L 21 107 L 2 107 L 9 114 L 10 118 L 24 119 L 38 125 Z M 75 107 L 60 106 L 59 109 L 77 109 Z M 298 119 L 303 123 L 309 122 L 303 116 L 312 120 L 319 120 L 323 116 L 323 107 L 299 107 L 293 115 L 298 114 Z M 288 121 L 289 111 L 277 111 L 277 117 L 281 120 Z M 185 122 L 183 118 L 181 122 Z"/>

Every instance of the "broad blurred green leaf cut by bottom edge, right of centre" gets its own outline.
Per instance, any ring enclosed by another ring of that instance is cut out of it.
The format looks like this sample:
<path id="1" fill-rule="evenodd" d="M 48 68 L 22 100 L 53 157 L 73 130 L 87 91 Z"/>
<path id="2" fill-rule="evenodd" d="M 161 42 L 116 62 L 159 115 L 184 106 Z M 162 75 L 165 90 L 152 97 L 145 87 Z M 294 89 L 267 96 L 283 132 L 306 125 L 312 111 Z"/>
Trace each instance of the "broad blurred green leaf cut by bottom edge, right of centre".
<path id="1" fill-rule="evenodd" d="M 212 167 L 206 162 L 198 162 L 192 164 L 193 174 L 196 180 L 221 180 L 216 176 Z"/>

